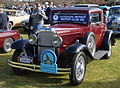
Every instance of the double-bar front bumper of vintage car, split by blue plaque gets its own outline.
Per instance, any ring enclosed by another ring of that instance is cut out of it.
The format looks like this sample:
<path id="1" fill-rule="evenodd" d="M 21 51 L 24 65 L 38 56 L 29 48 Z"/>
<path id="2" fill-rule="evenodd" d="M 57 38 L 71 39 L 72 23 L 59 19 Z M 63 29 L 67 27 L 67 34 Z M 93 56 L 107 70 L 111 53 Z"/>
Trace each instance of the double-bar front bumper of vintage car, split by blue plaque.
<path id="1" fill-rule="evenodd" d="M 11 60 L 8 60 L 8 65 L 14 68 L 20 68 L 34 72 L 41 72 L 40 65 L 13 62 Z M 57 68 L 57 74 L 70 74 L 70 68 Z"/>

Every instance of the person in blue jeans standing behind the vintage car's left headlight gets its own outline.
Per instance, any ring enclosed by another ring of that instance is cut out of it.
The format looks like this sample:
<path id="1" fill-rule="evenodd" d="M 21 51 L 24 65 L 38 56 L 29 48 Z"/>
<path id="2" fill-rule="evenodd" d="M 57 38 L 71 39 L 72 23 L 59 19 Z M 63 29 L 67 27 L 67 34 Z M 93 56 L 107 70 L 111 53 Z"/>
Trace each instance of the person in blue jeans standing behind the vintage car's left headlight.
<path id="1" fill-rule="evenodd" d="M 31 16 L 33 17 L 33 33 L 35 33 L 36 29 L 42 28 L 44 19 L 48 18 L 39 3 L 36 4 L 36 8 L 33 10 Z"/>

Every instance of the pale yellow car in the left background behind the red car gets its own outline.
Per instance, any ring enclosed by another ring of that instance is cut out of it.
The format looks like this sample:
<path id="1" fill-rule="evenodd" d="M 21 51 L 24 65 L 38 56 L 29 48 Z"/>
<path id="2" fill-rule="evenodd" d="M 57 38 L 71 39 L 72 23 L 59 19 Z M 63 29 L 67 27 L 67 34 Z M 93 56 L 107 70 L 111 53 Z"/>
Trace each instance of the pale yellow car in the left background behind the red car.
<path id="1" fill-rule="evenodd" d="M 8 30 L 13 27 L 21 27 L 21 22 L 25 19 L 29 19 L 30 15 L 20 10 L 4 10 L 9 17 Z"/>

